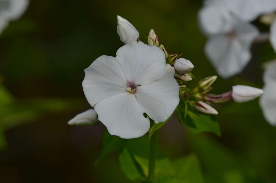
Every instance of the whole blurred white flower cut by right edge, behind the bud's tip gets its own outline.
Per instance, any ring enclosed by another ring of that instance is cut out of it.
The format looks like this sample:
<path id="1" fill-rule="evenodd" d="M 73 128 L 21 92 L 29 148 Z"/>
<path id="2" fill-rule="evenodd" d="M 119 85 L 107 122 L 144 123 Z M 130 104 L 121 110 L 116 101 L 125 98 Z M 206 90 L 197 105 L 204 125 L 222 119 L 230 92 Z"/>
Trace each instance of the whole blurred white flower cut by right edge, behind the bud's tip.
<path id="1" fill-rule="evenodd" d="M 264 72 L 264 94 L 260 97 L 260 106 L 264 118 L 276 125 L 276 63 L 272 62 Z"/>

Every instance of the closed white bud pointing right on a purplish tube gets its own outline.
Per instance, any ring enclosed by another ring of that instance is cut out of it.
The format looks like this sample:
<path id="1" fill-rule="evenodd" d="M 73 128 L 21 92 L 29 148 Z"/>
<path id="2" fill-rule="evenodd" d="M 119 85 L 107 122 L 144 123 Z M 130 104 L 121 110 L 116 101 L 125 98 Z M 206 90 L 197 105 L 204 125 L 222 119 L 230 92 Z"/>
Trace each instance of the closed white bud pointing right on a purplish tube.
<path id="1" fill-rule="evenodd" d="M 262 89 L 251 86 L 236 85 L 232 87 L 232 98 L 237 103 L 248 102 L 254 100 L 264 93 Z"/>

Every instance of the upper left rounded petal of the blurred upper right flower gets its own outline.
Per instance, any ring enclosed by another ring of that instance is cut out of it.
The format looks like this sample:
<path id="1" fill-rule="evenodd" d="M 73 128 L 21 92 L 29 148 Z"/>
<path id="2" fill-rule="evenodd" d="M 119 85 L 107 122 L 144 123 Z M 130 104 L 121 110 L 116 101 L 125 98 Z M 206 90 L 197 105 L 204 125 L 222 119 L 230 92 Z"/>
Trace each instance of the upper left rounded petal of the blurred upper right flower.
<path id="1" fill-rule="evenodd" d="M 198 12 L 199 27 L 207 36 L 230 31 L 231 18 L 231 12 L 221 0 L 204 1 L 204 6 Z"/>

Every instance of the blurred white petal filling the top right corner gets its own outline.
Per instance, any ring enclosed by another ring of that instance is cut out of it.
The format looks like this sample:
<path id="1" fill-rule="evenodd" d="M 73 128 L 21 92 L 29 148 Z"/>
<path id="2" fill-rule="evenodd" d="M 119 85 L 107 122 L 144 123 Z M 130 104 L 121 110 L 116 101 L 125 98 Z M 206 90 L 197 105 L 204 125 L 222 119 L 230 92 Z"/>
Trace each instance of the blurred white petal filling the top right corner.
<path id="1" fill-rule="evenodd" d="M 275 0 L 224 0 L 231 12 L 243 21 L 251 22 L 262 14 L 276 11 Z"/>

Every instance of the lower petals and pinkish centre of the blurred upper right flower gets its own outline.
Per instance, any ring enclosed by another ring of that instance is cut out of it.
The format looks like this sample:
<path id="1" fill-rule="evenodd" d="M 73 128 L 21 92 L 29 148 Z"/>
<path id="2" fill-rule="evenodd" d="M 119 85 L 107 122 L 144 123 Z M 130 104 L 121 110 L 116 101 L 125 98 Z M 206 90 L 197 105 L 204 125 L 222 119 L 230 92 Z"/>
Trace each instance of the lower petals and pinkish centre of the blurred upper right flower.
<path id="1" fill-rule="evenodd" d="M 206 56 L 223 78 L 240 73 L 251 59 L 250 47 L 259 35 L 258 29 L 249 23 L 233 19 L 232 30 L 212 35 L 205 45 Z"/>

